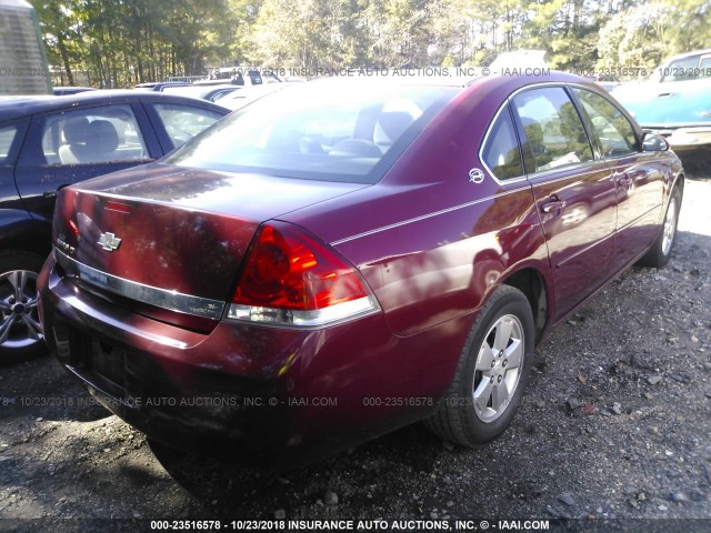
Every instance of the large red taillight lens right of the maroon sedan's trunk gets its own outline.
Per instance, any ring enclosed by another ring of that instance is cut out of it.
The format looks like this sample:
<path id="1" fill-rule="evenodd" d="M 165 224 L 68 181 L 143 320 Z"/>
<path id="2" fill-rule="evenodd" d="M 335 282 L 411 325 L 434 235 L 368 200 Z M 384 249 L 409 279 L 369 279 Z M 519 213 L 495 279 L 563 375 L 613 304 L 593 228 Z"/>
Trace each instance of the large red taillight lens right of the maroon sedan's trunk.
<path id="1" fill-rule="evenodd" d="M 233 303 L 316 311 L 369 298 L 352 265 L 304 231 L 263 225 L 247 259 Z"/>

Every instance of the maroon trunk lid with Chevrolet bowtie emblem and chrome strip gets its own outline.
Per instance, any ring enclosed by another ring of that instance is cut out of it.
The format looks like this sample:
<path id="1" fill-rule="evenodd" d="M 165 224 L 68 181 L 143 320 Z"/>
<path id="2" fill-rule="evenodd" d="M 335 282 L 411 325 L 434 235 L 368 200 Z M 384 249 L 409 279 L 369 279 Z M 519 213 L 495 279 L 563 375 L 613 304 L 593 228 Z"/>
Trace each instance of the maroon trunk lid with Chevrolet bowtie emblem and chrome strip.
<path id="1" fill-rule="evenodd" d="M 160 320 L 186 323 L 168 310 L 214 321 L 261 222 L 362 187 L 161 164 L 131 169 L 61 191 L 56 257 L 88 289 L 156 308 Z"/>

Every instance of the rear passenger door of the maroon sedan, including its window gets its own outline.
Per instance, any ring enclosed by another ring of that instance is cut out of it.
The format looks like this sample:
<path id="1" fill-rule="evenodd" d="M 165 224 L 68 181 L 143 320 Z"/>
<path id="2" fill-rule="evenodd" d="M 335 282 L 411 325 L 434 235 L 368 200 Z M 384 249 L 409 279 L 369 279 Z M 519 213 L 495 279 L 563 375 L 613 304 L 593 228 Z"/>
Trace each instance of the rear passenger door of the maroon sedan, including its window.
<path id="1" fill-rule="evenodd" d="M 512 100 L 553 271 L 559 320 L 610 273 L 615 184 L 595 161 L 582 120 L 563 87 L 544 86 Z"/>

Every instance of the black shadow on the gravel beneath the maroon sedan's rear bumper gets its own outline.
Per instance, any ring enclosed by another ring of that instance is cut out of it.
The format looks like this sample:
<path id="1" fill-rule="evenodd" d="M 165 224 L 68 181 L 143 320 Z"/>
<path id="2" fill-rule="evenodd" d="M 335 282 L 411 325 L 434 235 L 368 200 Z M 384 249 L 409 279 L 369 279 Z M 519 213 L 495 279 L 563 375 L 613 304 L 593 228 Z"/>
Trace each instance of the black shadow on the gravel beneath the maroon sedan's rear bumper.
<path id="1" fill-rule="evenodd" d="M 368 510 L 381 499 L 382 485 L 398 490 L 398 474 L 403 471 L 428 475 L 437 470 L 443 454 L 457 453 L 421 424 L 412 424 L 370 441 L 357 449 L 339 453 L 318 463 L 281 473 L 267 473 L 263 467 L 250 466 L 248 461 L 228 462 L 223 459 L 193 455 L 149 442 L 154 456 L 166 471 L 200 505 L 220 517 L 260 516 L 273 519 L 279 509 L 291 510 L 311 502 L 328 512 L 324 493 L 333 490 L 343 497 L 350 494 L 349 505 Z M 463 451 L 462 453 L 471 453 Z M 383 477 L 392 475 L 392 483 Z M 346 480 L 349 480 L 346 482 Z M 371 497 L 361 490 L 372 485 Z M 361 502 L 356 500 L 362 500 Z M 298 505 L 298 506 L 301 506 Z M 413 502 L 412 511 L 417 511 Z"/>

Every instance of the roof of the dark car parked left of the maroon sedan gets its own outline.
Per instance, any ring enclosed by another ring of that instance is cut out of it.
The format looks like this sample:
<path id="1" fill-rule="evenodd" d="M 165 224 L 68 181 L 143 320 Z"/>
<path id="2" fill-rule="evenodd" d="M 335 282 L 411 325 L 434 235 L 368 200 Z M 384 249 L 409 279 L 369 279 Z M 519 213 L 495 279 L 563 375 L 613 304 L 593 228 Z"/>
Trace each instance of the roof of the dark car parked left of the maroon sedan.
<path id="1" fill-rule="evenodd" d="M 53 94 L 42 95 L 17 95 L 0 97 L 0 120 L 17 119 L 44 111 L 53 111 L 76 105 L 91 104 L 116 104 L 131 102 L 166 102 L 183 103 L 193 107 L 212 109 L 218 112 L 228 113 L 229 110 L 212 102 L 197 100 L 194 98 L 180 97 L 178 94 L 163 94 L 153 91 L 134 91 L 131 89 L 111 89 L 101 91 L 86 91 L 71 95 L 57 97 Z"/>

